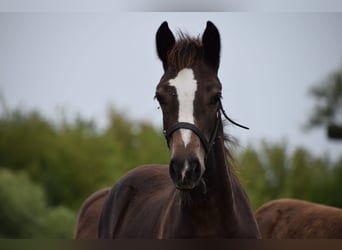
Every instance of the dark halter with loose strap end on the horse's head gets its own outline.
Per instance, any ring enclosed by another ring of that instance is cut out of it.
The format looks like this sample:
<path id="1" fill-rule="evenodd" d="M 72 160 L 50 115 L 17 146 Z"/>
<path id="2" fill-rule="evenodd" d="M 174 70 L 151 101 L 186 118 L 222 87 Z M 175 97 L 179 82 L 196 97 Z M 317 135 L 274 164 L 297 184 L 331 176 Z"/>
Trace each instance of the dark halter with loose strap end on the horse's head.
<path id="1" fill-rule="evenodd" d="M 198 127 L 196 127 L 194 124 L 189 123 L 189 122 L 177 122 L 177 123 L 174 123 L 173 125 L 171 125 L 168 129 L 163 131 L 168 147 L 170 147 L 170 138 L 175 131 L 177 131 L 178 129 L 189 129 L 192 132 L 194 132 L 198 136 L 198 138 L 200 139 L 200 141 L 201 141 L 201 143 L 205 149 L 206 158 L 207 158 L 207 156 L 209 155 L 209 153 L 210 153 L 210 151 L 211 151 L 211 149 L 215 143 L 215 139 L 217 137 L 219 119 L 221 118 L 220 111 L 222 112 L 223 116 L 232 124 L 234 124 L 240 128 L 243 128 L 243 129 L 249 129 L 248 127 L 243 126 L 239 123 L 236 123 L 232 119 L 230 119 L 227 116 L 226 112 L 224 111 L 224 109 L 222 107 L 222 103 L 220 101 L 219 102 L 219 110 L 217 111 L 217 119 L 215 122 L 215 128 L 214 128 L 213 132 L 211 133 L 209 141 L 207 140 L 205 135 L 202 133 L 202 131 Z"/>

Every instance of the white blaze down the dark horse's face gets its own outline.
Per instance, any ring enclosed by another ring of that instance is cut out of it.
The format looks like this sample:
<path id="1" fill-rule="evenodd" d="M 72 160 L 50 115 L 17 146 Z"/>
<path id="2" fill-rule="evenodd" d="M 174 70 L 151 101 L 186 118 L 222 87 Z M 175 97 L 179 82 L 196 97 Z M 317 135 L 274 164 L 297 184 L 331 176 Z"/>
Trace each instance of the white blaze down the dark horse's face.
<path id="1" fill-rule="evenodd" d="M 197 91 L 197 82 L 194 78 L 192 69 L 182 69 L 174 79 L 169 80 L 170 86 L 174 86 L 177 91 L 179 110 L 178 122 L 188 122 L 195 124 L 194 121 L 194 100 Z M 191 138 L 192 131 L 180 129 L 184 146 L 186 147 Z"/>

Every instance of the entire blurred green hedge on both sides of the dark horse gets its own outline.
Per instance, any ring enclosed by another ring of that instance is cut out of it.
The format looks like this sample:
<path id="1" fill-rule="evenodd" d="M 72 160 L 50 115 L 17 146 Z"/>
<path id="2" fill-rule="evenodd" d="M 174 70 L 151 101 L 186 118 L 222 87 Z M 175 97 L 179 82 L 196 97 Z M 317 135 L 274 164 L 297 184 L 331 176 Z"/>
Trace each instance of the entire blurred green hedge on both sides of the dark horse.
<path id="1" fill-rule="evenodd" d="M 0 116 L 1 237 L 71 238 L 91 193 L 136 166 L 168 162 L 161 129 L 114 109 L 108 118 L 100 130 L 82 117 L 54 123 L 38 112 Z M 333 162 L 266 142 L 234 155 L 254 209 L 280 197 L 342 207 L 342 158 Z"/>

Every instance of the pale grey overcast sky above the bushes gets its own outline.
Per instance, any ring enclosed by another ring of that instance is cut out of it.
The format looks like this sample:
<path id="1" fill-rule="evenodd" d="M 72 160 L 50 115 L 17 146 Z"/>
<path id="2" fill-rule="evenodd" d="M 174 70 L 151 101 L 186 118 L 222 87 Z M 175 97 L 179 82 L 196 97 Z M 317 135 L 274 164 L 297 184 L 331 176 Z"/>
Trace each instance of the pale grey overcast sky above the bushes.
<path id="1" fill-rule="evenodd" d="M 325 131 L 302 130 L 313 107 L 308 89 L 342 66 L 340 13 L 2 12 L 0 93 L 9 107 L 38 109 L 51 119 L 65 109 L 104 126 L 111 104 L 161 126 L 154 39 L 164 20 L 193 35 L 207 20 L 218 27 L 223 105 L 251 128 L 228 128 L 241 147 L 286 139 L 316 154 L 341 154 L 341 142 L 328 141 Z"/>

